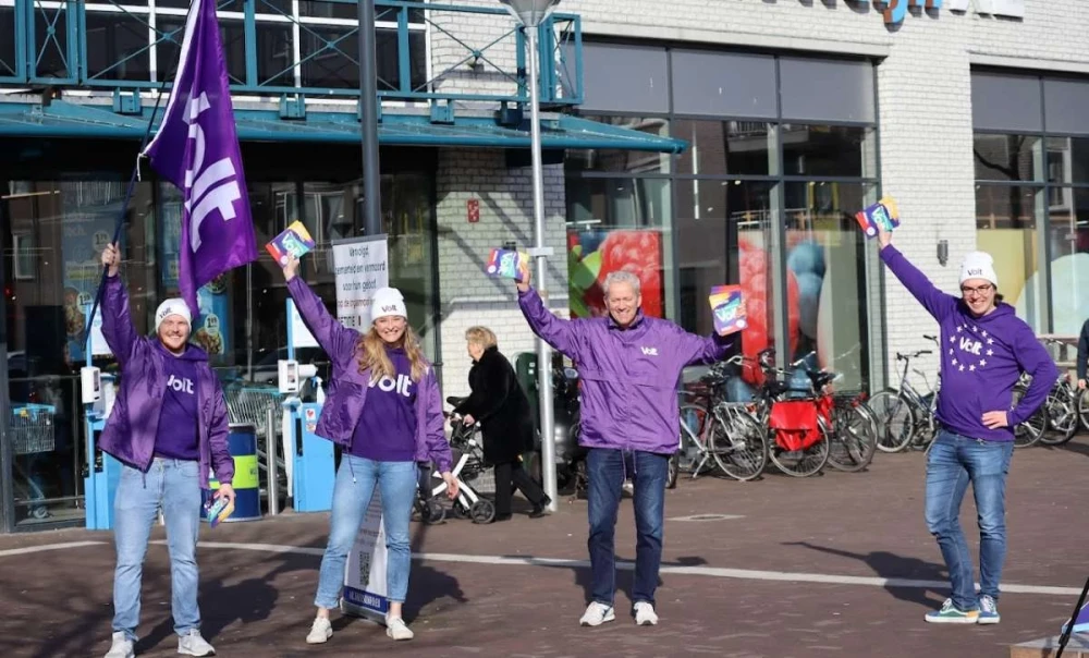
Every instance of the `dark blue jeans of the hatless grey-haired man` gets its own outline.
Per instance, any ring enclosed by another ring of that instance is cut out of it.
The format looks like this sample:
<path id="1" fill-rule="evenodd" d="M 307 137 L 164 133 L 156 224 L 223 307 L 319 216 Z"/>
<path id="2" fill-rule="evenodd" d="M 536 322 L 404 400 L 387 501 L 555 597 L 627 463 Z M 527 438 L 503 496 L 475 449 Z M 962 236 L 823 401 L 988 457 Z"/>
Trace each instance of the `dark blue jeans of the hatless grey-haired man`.
<path id="1" fill-rule="evenodd" d="M 632 602 L 653 605 L 658 588 L 658 569 L 662 563 L 663 512 L 669 455 L 652 452 L 591 448 L 586 455 L 587 502 L 590 535 L 592 600 L 613 605 L 616 592 L 616 556 L 613 538 L 616 529 L 616 511 L 625 475 L 631 473 L 635 484 L 635 587 Z"/>

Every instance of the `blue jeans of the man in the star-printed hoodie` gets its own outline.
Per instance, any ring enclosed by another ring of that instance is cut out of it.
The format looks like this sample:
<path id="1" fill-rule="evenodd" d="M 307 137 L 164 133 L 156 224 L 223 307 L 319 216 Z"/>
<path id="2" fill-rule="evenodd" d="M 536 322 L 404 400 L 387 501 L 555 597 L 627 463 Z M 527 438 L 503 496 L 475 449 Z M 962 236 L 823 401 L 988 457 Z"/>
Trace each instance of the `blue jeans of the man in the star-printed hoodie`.
<path id="1" fill-rule="evenodd" d="M 938 538 L 953 587 L 953 605 L 977 610 L 971 556 L 960 529 L 960 503 L 971 483 L 979 517 L 980 594 L 999 598 L 1006 559 L 1006 473 L 1013 441 L 982 441 L 941 430 L 927 459 L 927 528 Z"/>

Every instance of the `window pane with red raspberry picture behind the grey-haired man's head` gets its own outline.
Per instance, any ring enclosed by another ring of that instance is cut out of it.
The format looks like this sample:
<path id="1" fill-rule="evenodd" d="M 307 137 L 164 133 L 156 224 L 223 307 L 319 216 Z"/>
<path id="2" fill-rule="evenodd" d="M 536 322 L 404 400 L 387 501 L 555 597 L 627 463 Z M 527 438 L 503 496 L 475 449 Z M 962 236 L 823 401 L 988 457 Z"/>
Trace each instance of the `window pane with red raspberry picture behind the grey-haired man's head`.
<path id="1" fill-rule="evenodd" d="M 664 317 L 669 181 L 570 179 L 566 193 L 571 315 L 607 315 L 601 283 L 626 270 L 639 277 L 644 312 Z"/>

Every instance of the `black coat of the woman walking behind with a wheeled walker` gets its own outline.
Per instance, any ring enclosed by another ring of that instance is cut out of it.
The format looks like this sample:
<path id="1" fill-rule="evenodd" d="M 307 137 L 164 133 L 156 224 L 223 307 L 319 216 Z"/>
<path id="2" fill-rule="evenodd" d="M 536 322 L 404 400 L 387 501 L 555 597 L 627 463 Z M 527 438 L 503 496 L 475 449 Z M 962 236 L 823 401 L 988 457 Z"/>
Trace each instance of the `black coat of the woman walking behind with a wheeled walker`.
<path id="1" fill-rule="evenodd" d="M 517 461 L 534 446 L 534 418 L 518 378 L 497 348 L 488 348 L 469 370 L 472 393 L 456 410 L 480 423 L 488 463 Z"/>

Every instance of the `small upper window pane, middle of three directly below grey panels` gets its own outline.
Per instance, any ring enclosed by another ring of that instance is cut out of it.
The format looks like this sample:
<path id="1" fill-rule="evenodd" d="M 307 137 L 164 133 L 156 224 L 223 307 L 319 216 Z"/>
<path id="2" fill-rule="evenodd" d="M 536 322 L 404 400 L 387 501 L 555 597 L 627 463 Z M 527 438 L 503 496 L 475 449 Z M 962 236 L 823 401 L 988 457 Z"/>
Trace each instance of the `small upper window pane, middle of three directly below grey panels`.
<path id="1" fill-rule="evenodd" d="M 771 127 L 766 122 L 678 119 L 673 133 L 688 142 L 688 148 L 677 157 L 677 173 L 778 173 L 772 166 Z"/>

